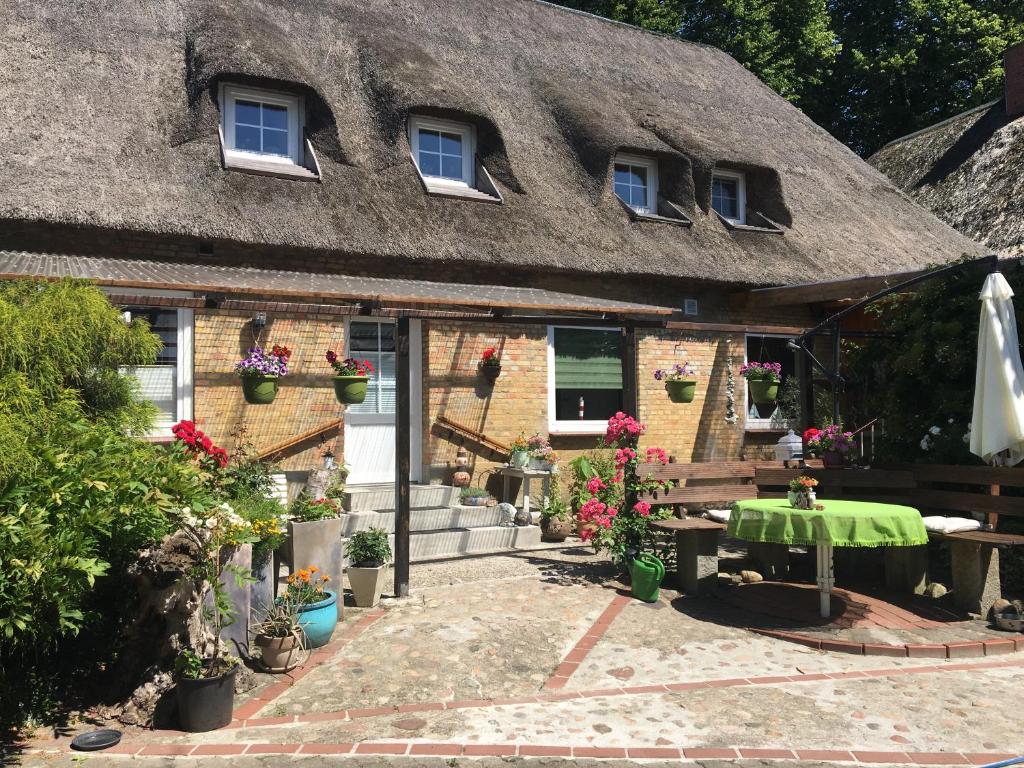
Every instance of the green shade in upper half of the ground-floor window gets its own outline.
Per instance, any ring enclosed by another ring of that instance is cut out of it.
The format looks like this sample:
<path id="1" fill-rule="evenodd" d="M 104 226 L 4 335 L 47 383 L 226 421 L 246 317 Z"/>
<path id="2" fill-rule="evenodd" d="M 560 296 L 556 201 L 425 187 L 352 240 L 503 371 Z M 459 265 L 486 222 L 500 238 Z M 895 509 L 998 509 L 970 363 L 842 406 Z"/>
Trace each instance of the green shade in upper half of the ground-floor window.
<path id="1" fill-rule="evenodd" d="M 555 388 L 622 389 L 618 332 L 556 328 Z"/>

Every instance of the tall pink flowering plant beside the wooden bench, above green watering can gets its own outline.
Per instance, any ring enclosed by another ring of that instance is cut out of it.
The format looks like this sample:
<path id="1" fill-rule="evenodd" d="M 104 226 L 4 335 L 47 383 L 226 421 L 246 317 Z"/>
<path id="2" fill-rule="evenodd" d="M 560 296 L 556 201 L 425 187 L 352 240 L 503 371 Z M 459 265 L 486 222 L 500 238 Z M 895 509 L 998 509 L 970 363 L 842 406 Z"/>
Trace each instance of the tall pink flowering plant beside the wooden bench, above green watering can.
<path id="1" fill-rule="evenodd" d="M 669 461 L 662 449 L 640 451 L 638 443 L 645 430 L 646 426 L 633 417 L 617 413 L 608 420 L 604 435 L 604 445 L 614 450 L 611 460 L 581 457 L 572 463 L 580 537 L 599 552 L 607 550 L 617 564 L 653 549 L 650 521 L 672 515 L 671 509 L 638 501 L 643 493 L 665 486 L 650 473 L 641 477 L 639 465 Z"/>

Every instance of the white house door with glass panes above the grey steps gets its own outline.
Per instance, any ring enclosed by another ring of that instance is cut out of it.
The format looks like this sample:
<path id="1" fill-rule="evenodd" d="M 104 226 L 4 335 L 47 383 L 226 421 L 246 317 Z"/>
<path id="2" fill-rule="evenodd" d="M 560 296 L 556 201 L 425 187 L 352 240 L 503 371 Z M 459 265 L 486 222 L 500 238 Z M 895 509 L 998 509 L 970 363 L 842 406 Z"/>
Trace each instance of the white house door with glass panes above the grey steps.
<path id="1" fill-rule="evenodd" d="M 373 364 L 374 375 L 367 399 L 345 410 L 345 463 L 349 484 L 394 482 L 395 370 L 394 323 L 351 319 L 348 323 L 346 356 Z M 410 323 L 410 378 L 412 384 L 412 479 L 420 479 L 420 323 Z"/>

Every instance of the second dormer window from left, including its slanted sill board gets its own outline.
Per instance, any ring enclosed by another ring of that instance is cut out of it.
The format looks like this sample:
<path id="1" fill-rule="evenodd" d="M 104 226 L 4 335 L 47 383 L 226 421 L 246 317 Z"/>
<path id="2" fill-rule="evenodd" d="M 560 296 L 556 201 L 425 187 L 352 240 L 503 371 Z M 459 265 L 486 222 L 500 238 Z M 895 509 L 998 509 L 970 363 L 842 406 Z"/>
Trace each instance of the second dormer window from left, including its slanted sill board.
<path id="1" fill-rule="evenodd" d="M 428 193 L 502 202 L 494 179 L 476 159 L 472 125 L 414 115 L 409 119 L 409 143 Z"/>

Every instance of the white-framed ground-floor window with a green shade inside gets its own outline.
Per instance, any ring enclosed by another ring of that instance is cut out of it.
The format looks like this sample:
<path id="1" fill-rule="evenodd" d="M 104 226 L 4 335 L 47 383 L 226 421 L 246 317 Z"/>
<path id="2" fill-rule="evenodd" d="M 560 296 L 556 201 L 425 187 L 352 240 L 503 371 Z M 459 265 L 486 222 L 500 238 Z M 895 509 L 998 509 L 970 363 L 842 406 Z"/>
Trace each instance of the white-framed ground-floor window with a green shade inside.
<path id="1" fill-rule="evenodd" d="M 601 434 L 623 410 L 622 331 L 548 326 L 548 431 Z"/>

